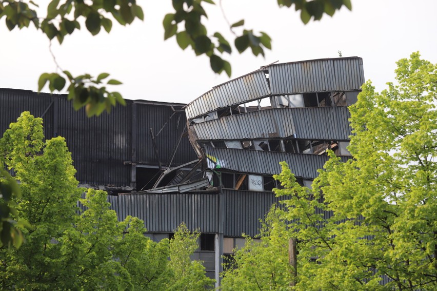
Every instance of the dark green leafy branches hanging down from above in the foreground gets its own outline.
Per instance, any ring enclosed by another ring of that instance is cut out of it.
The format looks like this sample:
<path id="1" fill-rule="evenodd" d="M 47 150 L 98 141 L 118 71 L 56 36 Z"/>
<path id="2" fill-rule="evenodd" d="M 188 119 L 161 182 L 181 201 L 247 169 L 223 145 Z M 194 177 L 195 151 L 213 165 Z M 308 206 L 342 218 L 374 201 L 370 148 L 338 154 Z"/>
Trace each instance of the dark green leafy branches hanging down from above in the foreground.
<path id="1" fill-rule="evenodd" d="M 186 49 L 191 47 L 196 55 L 205 54 L 209 57 L 211 69 L 216 73 L 225 71 L 231 75 L 231 65 L 222 56 L 231 53 L 232 46 L 216 31 L 209 33 L 204 25 L 208 17 L 204 5 L 215 5 L 212 0 L 173 0 L 173 13 L 164 16 L 164 39 L 175 37 L 177 44 Z M 346 6 L 351 9 L 350 0 L 278 0 L 280 7 L 291 7 L 301 11 L 301 20 L 308 23 L 313 17 L 320 20 L 323 14 L 332 16 L 336 10 Z M 47 15 L 37 14 L 38 5 L 33 1 L 1 0 L 0 18 L 5 16 L 6 26 L 9 30 L 18 27 L 29 27 L 30 23 L 41 30 L 49 40 L 55 37 L 61 44 L 64 38 L 81 29 L 79 21 L 85 20 L 86 29 L 92 35 L 98 34 L 102 27 L 110 32 L 112 22 L 118 24 L 131 24 L 135 18 L 143 20 L 143 9 L 135 0 L 83 0 L 64 1 L 51 0 L 47 5 Z M 226 18 L 226 17 L 225 17 Z M 264 55 L 264 49 L 271 49 L 270 37 L 264 33 L 255 33 L 252 29 L 235 31 L 244 25 L 244 20 L 234 24 L 229 23 L 229 29 L 235 35 L 234 47 L 239 53 L 248 48 L 254 55 Z M 55 62 L 56 63 L 56 62 Z M 73 107 L 79 109 L 86 106 L 88 115 L 100 114 L 105 109 L 109 112 L 116 103 L 124 104 L 122 95 L 115 91 L 108 91 L 108 85 L 122 84 L 120 81 L 110 79 L 101 73 L 97 77 L 84 73 L 73 76 L 68 70 L 63 70 L 56 63 L 58 71 L 43 73 L 39 77 L 38 90 L 48 82 L 50 91 L 61 91 L 67 86 L 68 99 L 72 100 Z"/>

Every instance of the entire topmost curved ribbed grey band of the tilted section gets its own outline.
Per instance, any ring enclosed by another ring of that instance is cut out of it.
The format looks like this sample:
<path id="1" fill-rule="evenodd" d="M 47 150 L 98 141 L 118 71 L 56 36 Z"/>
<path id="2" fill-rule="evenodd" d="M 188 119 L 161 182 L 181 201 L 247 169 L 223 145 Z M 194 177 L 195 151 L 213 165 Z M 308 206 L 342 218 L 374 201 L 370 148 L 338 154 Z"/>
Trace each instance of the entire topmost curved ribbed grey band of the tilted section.
<path id="1" fill-rule="evenodd" d="M 364 83 L 361 57 L 273 64 L 268 72 L 269 81 L 259 70 L 214 87 L 187 105 L 187 118 L 270 94 L 360 90 Z"/>

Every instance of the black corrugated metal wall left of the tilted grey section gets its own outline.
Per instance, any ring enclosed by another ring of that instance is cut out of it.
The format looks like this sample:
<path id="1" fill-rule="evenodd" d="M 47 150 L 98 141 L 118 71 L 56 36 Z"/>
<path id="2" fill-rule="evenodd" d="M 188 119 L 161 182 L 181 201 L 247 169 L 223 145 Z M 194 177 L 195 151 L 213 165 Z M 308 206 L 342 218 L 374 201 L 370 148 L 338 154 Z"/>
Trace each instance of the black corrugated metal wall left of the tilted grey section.
<path id="1" fill-rule="evenodd" d="M 123 162 L 132 160 L 132 134 L 136 134 L 137 158 L 156 165 L 149 128 L 156 134 L 172 114 L 169 105 L 137 104 L 138 132 L 133 132 L 133 103 L 116 106 L 110 114 L 86 117 L 85 110 L 75 111 L 66 95 L 36 93 L 27 90 L 0 89 L 0 134 L 15 122 L 23 111 L 35 117 L 43 114 L 46 138 L 61 135 L 66 138 L 72 153 L 76 179 L 81 184 L 129 186 L 131 167 Z M 179 122 L 177 122 L 179 120 Z M 186 124 L 185 113 L 175 114 L 157 138 L 161 162 L 165 165 L 173 146 L 177 143 Z M 196 159 L 188 138 L 184 137 L 175 154 L 173 166 Z"/>

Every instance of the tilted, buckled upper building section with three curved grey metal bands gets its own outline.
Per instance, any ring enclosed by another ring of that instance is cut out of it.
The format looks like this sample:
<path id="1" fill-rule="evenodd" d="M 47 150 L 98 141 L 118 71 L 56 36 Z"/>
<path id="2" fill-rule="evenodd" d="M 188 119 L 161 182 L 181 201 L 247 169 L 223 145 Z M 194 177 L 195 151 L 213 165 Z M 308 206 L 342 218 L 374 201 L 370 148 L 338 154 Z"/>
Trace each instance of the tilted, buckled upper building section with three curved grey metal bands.
<path id="1" fill-rule="evenodd" d="M 279 173 L 281 161 L 312 180 L 328 149 L 350 156 L 347 106 L 363 83 L 361 57 L 268 65 L 186 105 L 189 140 L 212 184 L 224 172 L 240 173 L 240 180 L 259 174 L 255 184 L 266 184 L 262 175 Z M 234 189 L 242 189 L 240 180 Z"/>

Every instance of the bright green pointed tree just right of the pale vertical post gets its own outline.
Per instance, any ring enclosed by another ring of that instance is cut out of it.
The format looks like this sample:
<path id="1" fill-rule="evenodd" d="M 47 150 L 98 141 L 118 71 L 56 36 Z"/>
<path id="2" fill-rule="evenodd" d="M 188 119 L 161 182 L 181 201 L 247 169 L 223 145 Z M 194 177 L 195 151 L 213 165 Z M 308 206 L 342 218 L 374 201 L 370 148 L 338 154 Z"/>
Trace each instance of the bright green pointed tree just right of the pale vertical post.
<path id="1" fill-rule="evenodd" d="M 288 264 L 288 232 L 282 211 L 273 205 L 261 229 L 261 240 L 246 237 L 234 250 L 234 262 L 222 274 L 223 290 L 287 290 L 292 279 Z"/>

